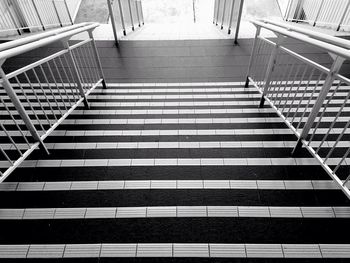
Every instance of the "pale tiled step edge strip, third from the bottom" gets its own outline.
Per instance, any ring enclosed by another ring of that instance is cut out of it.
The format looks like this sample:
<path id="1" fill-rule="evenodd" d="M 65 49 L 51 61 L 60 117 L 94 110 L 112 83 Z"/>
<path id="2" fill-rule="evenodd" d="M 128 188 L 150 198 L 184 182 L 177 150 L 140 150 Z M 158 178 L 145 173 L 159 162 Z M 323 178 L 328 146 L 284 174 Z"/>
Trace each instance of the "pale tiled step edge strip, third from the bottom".
<path id="1" fill-rule="evenodd" d="M 332 180 L 107 180 L 2 182 L 0 191 L 78 191 L 130 189 L 334 190 Z"/>

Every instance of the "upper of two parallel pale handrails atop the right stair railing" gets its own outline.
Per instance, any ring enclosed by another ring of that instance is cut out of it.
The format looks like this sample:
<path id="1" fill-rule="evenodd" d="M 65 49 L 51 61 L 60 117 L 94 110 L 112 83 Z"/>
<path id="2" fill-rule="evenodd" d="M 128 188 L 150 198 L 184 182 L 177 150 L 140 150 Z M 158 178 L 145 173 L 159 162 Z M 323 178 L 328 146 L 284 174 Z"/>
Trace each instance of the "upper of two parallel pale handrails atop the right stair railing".
<path id="1" fill-rule="evenodd" d="M 261 20 L 264 23 L 267 24 L 271 24 L 271 25 L 275 25 L 278 27 L 282 27 L 287 29 L 288 31 L 293 31 L 293 32 L 297 32 L 297 33 L 301 33 L 303 35 L 312 37 L 314 39 L 329 43 L 329 44 L 333 44 L 336 45 L 338 47 L 342 47 L 342 48 L 346 48 L 346 49 L 350 49 L 350 41 L 346 40 L 346 39 L 342 39 L 339 37 L 334 37 L 325 33 L 321 33 L 321 32 L 315 32 L 313 30 L 307 29 L 307 28 L 301 28 L 299 26 L 294 26 L 291 25 L 290 23 L 285 23 L 285 22 L 280 22 L 280 21 L 275 21 L 275 20 L 269 20 L 269 19 L 263 19 Z"/>

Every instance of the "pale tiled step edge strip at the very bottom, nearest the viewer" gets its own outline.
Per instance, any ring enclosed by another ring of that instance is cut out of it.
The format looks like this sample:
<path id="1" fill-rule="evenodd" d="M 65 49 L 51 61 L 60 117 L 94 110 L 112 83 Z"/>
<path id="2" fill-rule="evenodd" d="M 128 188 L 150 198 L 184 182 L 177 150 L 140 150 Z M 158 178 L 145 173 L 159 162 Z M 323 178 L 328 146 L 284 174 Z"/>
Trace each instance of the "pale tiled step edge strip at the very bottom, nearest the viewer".
<path id="1" fill-rule="evenodd" d="M 99 243 L 0 245 L 0 258 L 350 258 L 350 244 Z"/>

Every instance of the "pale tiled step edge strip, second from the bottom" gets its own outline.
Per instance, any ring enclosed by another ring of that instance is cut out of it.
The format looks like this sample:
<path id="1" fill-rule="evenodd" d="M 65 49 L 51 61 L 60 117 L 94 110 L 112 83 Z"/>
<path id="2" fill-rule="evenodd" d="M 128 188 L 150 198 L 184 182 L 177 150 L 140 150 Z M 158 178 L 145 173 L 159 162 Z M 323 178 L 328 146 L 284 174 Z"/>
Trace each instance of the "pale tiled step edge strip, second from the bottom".
<path id="1" fill-rule="evenodd" d="M 350 218 L 349 207 L 297 206 L 148 206 L 0 209 L 0 220 L 121 218 Z"/>

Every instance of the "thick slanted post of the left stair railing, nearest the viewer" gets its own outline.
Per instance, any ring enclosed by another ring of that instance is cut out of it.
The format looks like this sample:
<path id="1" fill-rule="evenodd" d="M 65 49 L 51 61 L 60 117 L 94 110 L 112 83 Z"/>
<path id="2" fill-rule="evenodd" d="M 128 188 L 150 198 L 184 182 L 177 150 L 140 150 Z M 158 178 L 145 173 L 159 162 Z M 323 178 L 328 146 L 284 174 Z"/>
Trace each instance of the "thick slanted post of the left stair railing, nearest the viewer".
<path id="1" fill-rule="evenodd" d="M 27 114 L 26 110 L 24 109 L 20 99 L 18 98 L 16 92 L 13 90 L 12 85 L 10 81 L 8 80 L 4 70 L 2 69 L 1 65 L 4 63 L 4 61 L 0 62 L 0 77 L 2 79 L 2 86 L 6 91 L 6 94 L 10 97 L 11 102 L 15 106 L 18 114 L 21 116 L 22 121 L 26 125 L 28 131 L 32 135 L 35 141 L 39 142 L 40 147 L 47 153 L 50 154 L 48 149 L 46 148 L 43 140 L 41 139 L 37 129 L 35 128 L 32 120 L 29 118 L 29 115 Z"/>

